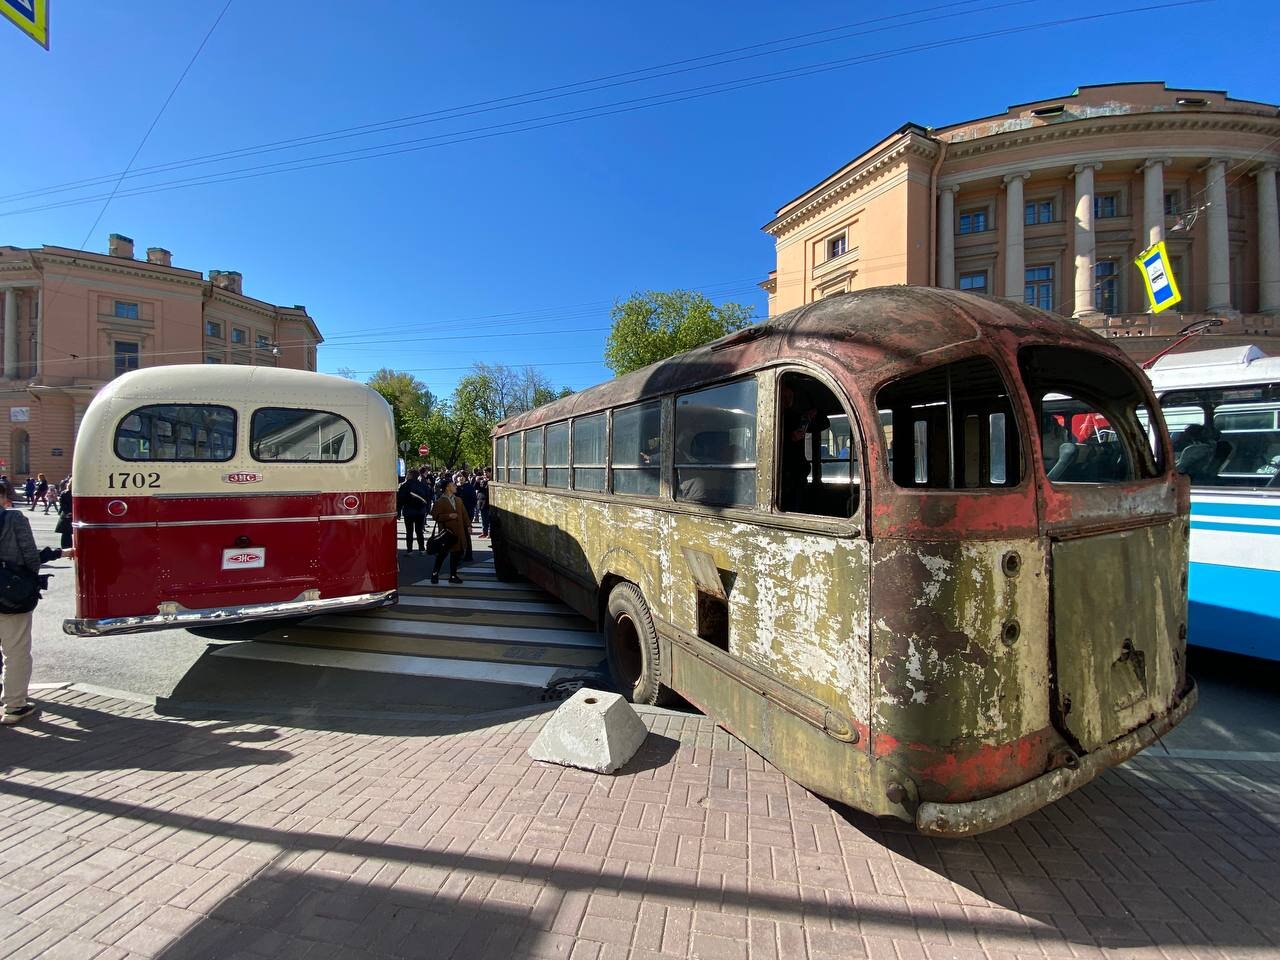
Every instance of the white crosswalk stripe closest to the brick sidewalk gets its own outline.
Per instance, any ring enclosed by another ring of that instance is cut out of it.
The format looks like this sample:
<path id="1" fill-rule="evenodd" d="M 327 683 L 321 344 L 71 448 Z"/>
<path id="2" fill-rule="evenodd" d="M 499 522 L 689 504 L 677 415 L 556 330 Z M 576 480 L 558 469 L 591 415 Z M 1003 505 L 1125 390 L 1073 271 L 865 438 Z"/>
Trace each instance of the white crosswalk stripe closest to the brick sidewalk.
<path id="1" fill-rule="evenodd" d="M 289 646 L 287 644 L 241 643 L 228 644 L 214 652 L 214 657 L 233 657 L 243 660 L 270 660 L 275 663 L 301 663 L 308 667 L 338 667 L 362 669 L 370 673 L 401 673 L 413 677 L 440 677 L 444 680 L 480 680 L 489 684 L 545 687 L 566 667 L 539 667 L 529 663 L 493 663 L 490 660 L 451 660 L 438 657 L 403 657 L 393 653 L 357 653 L 329 650 L 319 646 Z M 589 671 L 582 671 L 588 673 Z"/>

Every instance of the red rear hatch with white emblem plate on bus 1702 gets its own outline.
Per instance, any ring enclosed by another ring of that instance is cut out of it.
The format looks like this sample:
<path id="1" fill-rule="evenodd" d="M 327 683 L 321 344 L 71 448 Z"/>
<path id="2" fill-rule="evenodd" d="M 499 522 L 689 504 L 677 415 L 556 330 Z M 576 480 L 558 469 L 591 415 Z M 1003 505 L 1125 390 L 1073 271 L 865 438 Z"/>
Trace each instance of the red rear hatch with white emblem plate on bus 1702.
<path id="1" fill-rule="evenodd" d="M 319 493 L 157 497 L 161 596 L 197 609 L 317 589 L 320 503 Z"/>

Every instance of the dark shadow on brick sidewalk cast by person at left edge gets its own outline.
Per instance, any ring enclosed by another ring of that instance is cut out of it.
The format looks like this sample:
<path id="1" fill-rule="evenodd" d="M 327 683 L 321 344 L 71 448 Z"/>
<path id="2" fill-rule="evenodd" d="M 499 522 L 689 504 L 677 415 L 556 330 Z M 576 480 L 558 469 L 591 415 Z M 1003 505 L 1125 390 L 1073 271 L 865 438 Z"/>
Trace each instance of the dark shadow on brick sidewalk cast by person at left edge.
<path id="1" fill-rule="evenodd" d="M 58 723 L 55 718 L 70 721 Z M 239 723 L 238 721 L 237 723 Z M 104 713 L 87 707 L 45 703 L 23 730 L 42 736 L 0 733 L 4 763 L 0 768 L 32 771 L 214 771 L 282 764 L 288 750 L 260 750 L 248 744 L 279 737 L 271 730 L 228 730 L 229 723 L 191 726 L 163 719 L 142 719 Z"/>

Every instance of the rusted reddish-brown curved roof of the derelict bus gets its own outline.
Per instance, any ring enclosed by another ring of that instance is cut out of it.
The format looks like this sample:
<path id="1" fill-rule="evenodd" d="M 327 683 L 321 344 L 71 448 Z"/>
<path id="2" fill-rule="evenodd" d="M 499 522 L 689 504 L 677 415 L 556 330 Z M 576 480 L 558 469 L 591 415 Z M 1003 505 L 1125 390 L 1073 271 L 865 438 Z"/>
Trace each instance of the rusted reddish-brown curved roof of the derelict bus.
<path id="1" fill-rule="evenodd" d="M 1079 324 L 995 297 L 932 287 L 877 287 L 824 297 L 626 376 L 499 422 L 494 433 L 581 416 L 682 390 L 780 358 L 842 367 L 874 390 L 906 374 L 977 352 L 1002 332 L 1016 340 L 1078 346 L 1124 360 L 1115 344 Z"/>

